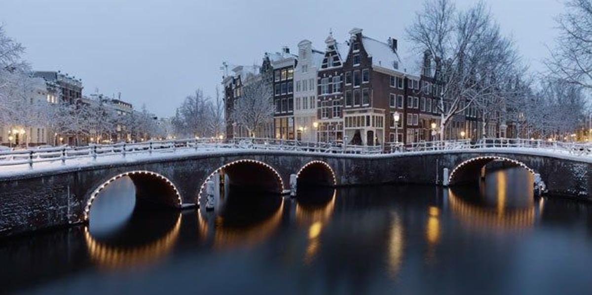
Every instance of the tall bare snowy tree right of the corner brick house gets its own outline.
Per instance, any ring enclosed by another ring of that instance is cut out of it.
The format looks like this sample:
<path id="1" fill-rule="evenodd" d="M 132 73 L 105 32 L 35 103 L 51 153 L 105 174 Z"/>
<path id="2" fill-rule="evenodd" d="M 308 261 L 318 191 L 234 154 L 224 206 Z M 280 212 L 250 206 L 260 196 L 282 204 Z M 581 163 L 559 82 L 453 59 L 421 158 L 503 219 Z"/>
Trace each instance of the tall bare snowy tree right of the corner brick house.
<path id="1" fill-rule="evenodd" d="M 422 85 L 421 91 L 436 89 L 431 92 L 439 98 L 440 134 L 475 102 L 489 107 L 507 95 L 503 84 L 514 73 L 515 49 L 501 36 L 483 2 L 459 11 L 452 0 L 426 0 L 407 35 L 424 54 L 423 75 L 435 81 Z"/>

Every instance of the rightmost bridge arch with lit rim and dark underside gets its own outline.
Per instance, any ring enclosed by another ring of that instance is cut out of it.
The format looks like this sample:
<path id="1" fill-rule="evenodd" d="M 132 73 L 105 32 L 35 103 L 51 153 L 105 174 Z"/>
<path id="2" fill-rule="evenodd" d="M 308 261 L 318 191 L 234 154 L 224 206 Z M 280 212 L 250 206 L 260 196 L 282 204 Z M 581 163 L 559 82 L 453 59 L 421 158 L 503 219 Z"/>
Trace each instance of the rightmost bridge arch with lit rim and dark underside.
<path id="1" fill-rule="evenodd" d="M 477 179 L 481 175 L 481 168 L 483 168 L 485 165 L 487 165 L 487 163 L 490 163 L 492 161 L 504 161 L 513 163 L 514 165 L 526 169 L 526 171 L 530 172 L 530 174 L 532 174 L 533 176 L 536 174 L 534 169 L 530 168 L 525 163 L 514 159 L 501 156 L 478 156 L 456 165 L 456 167 L 452 169 L 452 172 L 448 177 L 449 185 L 466 184 L 474 182 L 475 179 Z"/>

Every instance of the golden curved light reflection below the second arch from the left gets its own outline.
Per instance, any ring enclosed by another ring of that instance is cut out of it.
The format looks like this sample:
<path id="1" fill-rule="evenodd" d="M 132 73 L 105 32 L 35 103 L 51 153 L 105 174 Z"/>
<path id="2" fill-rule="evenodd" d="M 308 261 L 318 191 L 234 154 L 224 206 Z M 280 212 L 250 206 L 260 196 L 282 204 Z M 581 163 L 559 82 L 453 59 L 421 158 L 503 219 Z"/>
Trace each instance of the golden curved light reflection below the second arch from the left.
<path id="1" fill-rule="evenodd" d="M 231 248 L 239 245 L 255 245 L 270 236 L 282 220 L 284 198 L 275 213 L 268 219 L 250 227 L 224 227 L 224 218 L 218 216 L 215 220 L 214 249 Z"/>

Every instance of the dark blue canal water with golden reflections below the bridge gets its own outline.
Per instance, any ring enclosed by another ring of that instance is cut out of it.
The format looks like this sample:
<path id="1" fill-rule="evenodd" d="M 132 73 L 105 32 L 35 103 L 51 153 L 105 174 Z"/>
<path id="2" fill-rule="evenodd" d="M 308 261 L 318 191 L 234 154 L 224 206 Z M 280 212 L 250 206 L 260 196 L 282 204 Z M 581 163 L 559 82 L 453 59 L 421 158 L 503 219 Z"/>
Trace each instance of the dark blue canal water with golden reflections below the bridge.
<path id="1" fill-rule="evenodd" d="M 88 227 L 0 240 L 0 293 L 590 294 L 592 207 L 478 187 L 230 188 L 213 213 L 134 210 L 122 178 Z"/>

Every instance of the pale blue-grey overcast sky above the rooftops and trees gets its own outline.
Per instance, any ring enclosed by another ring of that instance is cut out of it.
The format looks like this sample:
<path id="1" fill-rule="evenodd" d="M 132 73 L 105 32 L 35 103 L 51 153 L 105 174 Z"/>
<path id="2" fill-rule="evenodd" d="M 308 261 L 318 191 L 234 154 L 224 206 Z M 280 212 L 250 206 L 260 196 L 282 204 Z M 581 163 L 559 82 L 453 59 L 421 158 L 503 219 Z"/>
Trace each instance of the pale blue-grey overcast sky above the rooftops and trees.
<path id="1" fill-rule="evenodd" d="M 458 7 L 475 1 L 457 0 Z M 506 34 L 533 70 L 542 70 L 562 0 L 489 0 Z M 36 70 L 82 78 L 84 94 L 117 94 L 161 117 L 194 89 L 215 95 L 221 63 L 260 65 L 264 52 L 308 39 L 324 49 L 352 27 L 408 44 L 404 28 L 421 8 L 414 0 L 0 0 L 0 23 L 25 47 Z"/>

